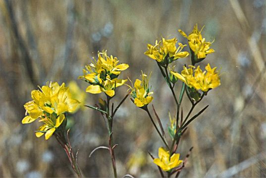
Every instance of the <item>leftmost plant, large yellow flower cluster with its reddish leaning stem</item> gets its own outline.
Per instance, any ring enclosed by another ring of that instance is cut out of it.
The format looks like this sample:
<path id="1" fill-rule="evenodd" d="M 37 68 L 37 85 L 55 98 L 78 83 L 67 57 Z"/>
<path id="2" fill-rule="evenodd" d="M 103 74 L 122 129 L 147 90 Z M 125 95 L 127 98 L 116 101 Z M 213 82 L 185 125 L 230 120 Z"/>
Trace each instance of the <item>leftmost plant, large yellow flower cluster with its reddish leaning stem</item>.
<path id="1" fill-rule="evenodd" d="M 31 92 L 33 100 L 24 105 L 26 116 L 22 124 L 29 124 L 39 119 L 43 125 L 35 132 L 36 136 L 45 134 L 45 139 L 49 139 L 54 135 L 65 150 L 74 172 L 81 177 L 77 155 L 74 155 L 69 141 L 69 130 L 67 132 L 65 130 L 67 123 L 65 114 L 76 111 L 80 102 L 71 97 L 69 88 L 65 87 L 64 83 L 59 86 L 56 82 L 50 82 L 39 89 Z"/>

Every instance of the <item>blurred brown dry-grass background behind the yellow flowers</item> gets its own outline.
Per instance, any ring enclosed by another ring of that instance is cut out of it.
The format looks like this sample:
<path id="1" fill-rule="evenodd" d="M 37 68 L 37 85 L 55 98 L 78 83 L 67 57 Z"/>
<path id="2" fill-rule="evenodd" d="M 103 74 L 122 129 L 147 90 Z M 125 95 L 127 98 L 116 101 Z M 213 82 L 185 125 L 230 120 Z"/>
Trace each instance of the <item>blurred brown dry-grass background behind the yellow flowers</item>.
<path id="1" fill-rule="evenodd" d="M 76 85 L 85 104 L 97 103 L 101 94 L 84 94 L 88 85 L 77 78 L 98 50 L 130 65 L 120 78 L 134 81 L 141 70 L 153 72 L 153 104 L 166 129 L 174 100 L 156 62 L 143 53 L 161 36 L 187 44 L 177 29 L 188 34 L 196 23 L 205 25 L 207 41 L 215 39 L 215 52 L 200 65 L 217 66 L 221 85 L 194 111 L 210 104 L 181 140 L 182 159 L 194 149 L 180 176 L 266 177 L 265 0 L 0 0 L 0 177 L 74 176 L 56 139 L 35 136 L 40 123 L 21 124 L 23 105 L 47 81 Z M 184 64 L 189 57 L 175 63 L 176 71 Z M 126 92 L 120 87 L 113 102 Z M 184 114 L 190 109 L 186 97 L 182 108 Z M 100 114 L 81 107 L 68 125 L 84 176 L 111 177 L 107 150 L 89 158 L 95 147 L 107 145 Z M 147 151 L 157 157 L 163 143 L 147 114 L 129 99 L 114 119 L 113 138 L 119 177 L 160 176 Z"/>

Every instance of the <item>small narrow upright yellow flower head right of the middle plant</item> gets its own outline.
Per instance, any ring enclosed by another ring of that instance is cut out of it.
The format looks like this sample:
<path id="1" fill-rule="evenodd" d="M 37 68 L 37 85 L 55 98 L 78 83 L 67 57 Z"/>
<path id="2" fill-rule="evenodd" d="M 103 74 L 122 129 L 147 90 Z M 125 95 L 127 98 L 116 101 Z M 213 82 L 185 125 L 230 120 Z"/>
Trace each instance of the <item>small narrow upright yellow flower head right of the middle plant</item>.
<path id="1" fill-rule="evenodd" d="M 134 83 L 134 87 L 131 88 L 131 96 L 134 98 L 134 103 L 138 107 L 143 107 L 153 100 L 153 94 L 151 89 L 149 88 L 149 79 L 151 75 L 148 77 L 146 74 L 142 72 L 142 81 L 136 79 Z"/>

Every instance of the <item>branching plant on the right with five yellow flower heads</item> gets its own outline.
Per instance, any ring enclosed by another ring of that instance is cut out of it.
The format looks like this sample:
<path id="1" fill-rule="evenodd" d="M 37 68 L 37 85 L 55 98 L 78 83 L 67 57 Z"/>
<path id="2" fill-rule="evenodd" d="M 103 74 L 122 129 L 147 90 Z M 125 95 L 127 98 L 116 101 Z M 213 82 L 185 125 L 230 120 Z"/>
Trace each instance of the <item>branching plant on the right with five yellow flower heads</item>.
<path id="1" fill-rule="evenodd" d="M 185 58 L 189 55 L 189 52 L 185 51 L 186 45 L 178 43 L 178 47 L 176 47 L 176 38 L 169 40 L 162 38 L 161 41 L 156 41 L 155 45 L 148 44 L 148 49 L 144 53 L 150 58 L 156 60 L 160 69 L 160 73 L 165 79 L 167 86 L 171 90 L 173 99 L 176 104 L 175 117 L 171 117 L 169 113 L 170 125 L 168 126 L 168 134 L 171 138 L 171 144 L 168 144 L 167 137 L 165 135 L 155 107 L 153 106 L 153 110 L 157 118 L 159 127 L 156 125 L 149 111 L 148 104 L 151 103 L 152 99 L 149 99 L 149 102 L 144 102 L 148 100 L 148 97 L 150 97 L 150 95 L 148 94 L 150 92 L 149 88 L 144 87 L 149 86 L 148 80 L 144 80 L 146 75 L 142 74 L 143 81 L 137 79 L 134 84 L 134 88 L 130 88 L 131 96 L 133 97 L 132 101 L 134 101 L 134 104 L 136 106 L 144 109 L 147 112 L 156 131 L 160 135 L 162 142 L 164 143 L 164 147 L 159 148 L 159 158 L 155 158 L 149 152 L 154 160 L 154 163 L 158 166 L 162 177 L 165 177 L 163 172 L 167 173 L 167 177 L 170 177 L 173 174 L 176 174 L 175 177 L 179 176 L 180 172 L 185 166 L 189 154 L 186 156 L 184 161 L 180 160 L 180 154 L 176 153 L 178 144 L 181 140 L 182 135 L 188 129 L 189 124 L 199 115 L 201 115 L 209 105 L 201 109 L 196 115 L 192 117 L 190 115 L 195 106 L 204 98 L 204 96 L 206 96 L 211 89 L 214 89 L 220 85 L 220 76 L 218 74 L 218 71 L 216 71 L 216 67 L 212 68 L 211 65 L 208 64 L 205 67 L 206 71 L 202 71 L 200 66 L 195 66 L 195 64 L 204 60 L 207 54 L 214 52 L 214 50 L 210 48 L 213 42 L 206 42 L 205 38 L 202 37 L 202 30 L 203 28 L 201 29 L 201 31 L 198 30 L 197 24 L 194 26 L 193 31 L 188 36 L 182 30 L 178 30 L 182 36 L 187 38 L 191 51 L 191 65 L 189 65 L 189 68 L 184 65 L 184 70 L 181 71 L 181 73 L 178 73 L 174 70 L 174 65 L 172 65 L 171 68 L 169 67 L 169 64 L 174 62 L 178 58 Z M 174 88 L 177 85 L 181 85 L 179 96 L 176 94 L 176 90 Z M 187 113 L 186 117 L 183 117 L 182 109 L 180 112 L 184 93 L 186 93 L 189 101 L 191 102 L 191 109 Z M 190 151 L 191 150 L 192 148 L 190 149 Z"/>

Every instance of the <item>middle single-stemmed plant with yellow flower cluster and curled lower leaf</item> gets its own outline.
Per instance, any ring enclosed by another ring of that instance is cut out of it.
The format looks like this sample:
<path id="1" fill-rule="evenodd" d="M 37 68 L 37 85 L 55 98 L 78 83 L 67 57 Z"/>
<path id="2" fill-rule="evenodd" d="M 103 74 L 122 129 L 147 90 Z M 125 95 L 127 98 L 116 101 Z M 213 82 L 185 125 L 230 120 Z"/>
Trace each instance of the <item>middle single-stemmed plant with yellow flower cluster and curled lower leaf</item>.
<path id="1" fill-rule="evenodd" d="M 90 92 L 93 94 L 104 92 L 106 94 L 106 99 L 100 98 L 99 104 L 96 104 L 96 107 L 90 105 L 85 106 L 99 111 L 105 120 L 106 128 L 108 130 L 109 135 L 108 147 L 99 146 L 94 149 L 92 153 L 99 148 L 105 148 L 109 150 L 113 168 L 113 175 L 115 178 L 117 177 L 117 172 L 114 147 L 117 146 L 117 144 L 113 144 L 112 140 L 113 117 L 118 108 L 129 95 L 129 93 L 126 94 L 126 96 L 121 100 L 121 102 L 116 106 L 116 108 L 114 108 L 113 103 L 110 103 L 110 100 L 115 95 L 116 88 L 124 85 L 127 82 L 127 80 L 118 79 L 118 76 L 120 75 L 121 71 L 126 70 L 129 65 L 118 64 L 118 62 L 119 61 L 116 57 L 107 56 L 106 51 L 98 52 L 98 59 L 95 59 L 93 57 L 93 63 L 91 63 L 90 65 L 86 65 L 85 68 L 87 70 L 84 69 L 84 75 L 79 77 L 81 80 L 90 84 L 90 86 L 87 87 L 86 92 Z M 92 153 L 90 154 L 90 156 L 92 155 Z"/>

